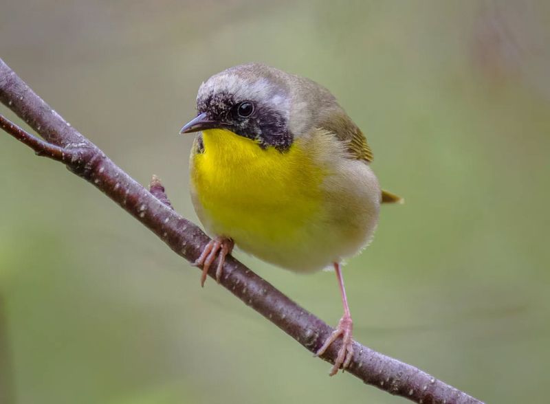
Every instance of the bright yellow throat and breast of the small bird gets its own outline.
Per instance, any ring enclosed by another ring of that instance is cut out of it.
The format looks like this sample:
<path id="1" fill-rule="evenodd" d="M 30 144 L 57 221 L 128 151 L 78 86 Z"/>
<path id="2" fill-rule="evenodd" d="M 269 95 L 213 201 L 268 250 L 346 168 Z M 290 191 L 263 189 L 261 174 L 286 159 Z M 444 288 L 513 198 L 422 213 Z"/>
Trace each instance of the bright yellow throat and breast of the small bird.
<path id="1" fill-rule="evenodd" d="M 203 146 L 192 156 L 191 183 L 207 229 L 245 250 L 299 242 L 320 212 L 325 177 L 300 143 L 281 153 L 214 129 L 203 131 Z"/>

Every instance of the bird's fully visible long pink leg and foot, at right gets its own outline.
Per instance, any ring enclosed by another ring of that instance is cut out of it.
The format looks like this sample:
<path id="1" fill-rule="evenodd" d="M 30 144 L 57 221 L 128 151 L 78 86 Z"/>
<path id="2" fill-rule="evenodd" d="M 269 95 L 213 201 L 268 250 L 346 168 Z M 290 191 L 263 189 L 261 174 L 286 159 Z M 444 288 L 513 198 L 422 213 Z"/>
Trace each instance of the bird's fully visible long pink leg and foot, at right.
<path id="1" fill-rule="evenodd" d="M 338 322 L 338 327 L 333 331 L 330 337 L 327 338 L 325 344 L 316 352 L 315 356 L 320 356 L 325 353 L 327 348 L 338 339 L 342 337 L 342 346 L 338 351 L 338 357 L 334 361 L 334 366 L 329 373 L 331 376 L 338 373 L 338 369 L 342 367 L 342 370 L 346 369 L 353 359 L 353 339 L 351 339 L 351 333 L 353 330 L 353 322 L 351 321 L 351 314 L 349 313 L 348 299 L 346 297 L 346 289 L 344 288 L 344 278 L 342 277 L 342 271 L 340 269 L 340 263 L 334 262 L 334 270 L 336 271 L 336 277 L 338 278 L 338 284 L 340 285 L 340 293 L 342 294 L 342 304 L 344 304 L 344 315 Z"/>

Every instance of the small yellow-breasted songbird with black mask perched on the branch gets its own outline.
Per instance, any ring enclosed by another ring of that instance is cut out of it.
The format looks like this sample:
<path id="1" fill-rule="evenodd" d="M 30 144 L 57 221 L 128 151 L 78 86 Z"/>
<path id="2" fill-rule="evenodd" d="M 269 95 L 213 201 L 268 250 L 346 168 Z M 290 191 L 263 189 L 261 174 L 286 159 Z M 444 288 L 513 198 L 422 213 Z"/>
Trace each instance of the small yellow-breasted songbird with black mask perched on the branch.
<path id="1" fill-rule="evenodd" d="M 190 155 L 192 203 L 214 238 L 195 262 L 201 284 L 234 243 L 296 272 L 333 266 L 344 315 L 316 355 L 342 337 L 331 369 L 353 357 L 352 321 L 340 263 L 373 236 L 380 203 L 401 199 L 380 189 L 366 138 L 325 87 L 266 65 L 224 70 L 203 82 Z"/>

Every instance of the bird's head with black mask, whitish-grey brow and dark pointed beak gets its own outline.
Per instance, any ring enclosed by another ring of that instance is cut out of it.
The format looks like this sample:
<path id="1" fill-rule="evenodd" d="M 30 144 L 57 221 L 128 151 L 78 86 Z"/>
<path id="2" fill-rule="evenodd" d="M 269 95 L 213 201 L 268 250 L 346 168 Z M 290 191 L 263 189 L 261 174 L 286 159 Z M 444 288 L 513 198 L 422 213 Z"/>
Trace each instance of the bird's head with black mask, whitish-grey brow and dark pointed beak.
<path id="1" fill-rule="evenodd" d="M 284 152 L 331 102 L 333 96 L 311 80 L 259 63 L 239 65 L 203 82 L 197 117 L 180 133 L 225 129 Z"/>

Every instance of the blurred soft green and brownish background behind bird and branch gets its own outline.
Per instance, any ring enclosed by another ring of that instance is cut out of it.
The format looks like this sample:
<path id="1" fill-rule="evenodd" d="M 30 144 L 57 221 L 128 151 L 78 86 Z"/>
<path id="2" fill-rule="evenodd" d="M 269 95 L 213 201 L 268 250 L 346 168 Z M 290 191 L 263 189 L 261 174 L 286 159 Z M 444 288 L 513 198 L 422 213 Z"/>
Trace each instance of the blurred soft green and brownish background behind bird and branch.
<path id="1" fill-rule="evenodd" d="M 406 198 L 346 268 L 356 339 L 490 403 L 547 402 L 549 43 L 544 0 L 2 0 L 0 14 L 0 57 L 194 221 L 177 132 L 203 80 L 259 61 L 331 89 Z M 0 151 L 1 403 L 404 402 L 329 379 L 61 164 L 3 133 Z M 333 273 L 236 256 L 337 324 Z"/>

